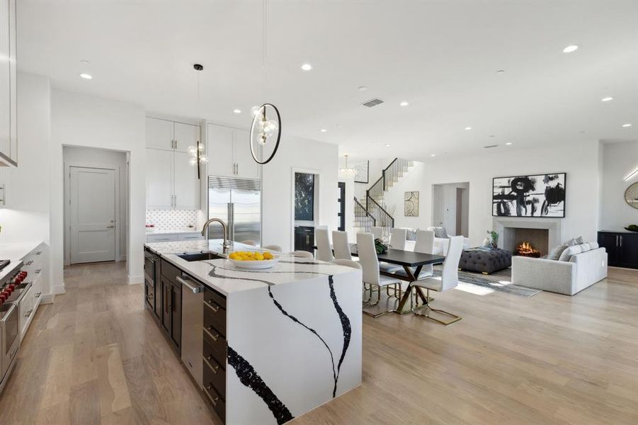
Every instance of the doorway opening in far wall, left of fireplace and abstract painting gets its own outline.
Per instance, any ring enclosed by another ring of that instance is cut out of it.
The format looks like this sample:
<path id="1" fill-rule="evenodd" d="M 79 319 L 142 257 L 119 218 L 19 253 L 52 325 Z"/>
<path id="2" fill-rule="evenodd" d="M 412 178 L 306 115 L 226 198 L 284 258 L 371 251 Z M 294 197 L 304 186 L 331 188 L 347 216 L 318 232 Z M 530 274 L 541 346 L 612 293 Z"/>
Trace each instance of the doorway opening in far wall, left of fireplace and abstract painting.
<path id="1" fill-rule="evenodd" d="M 432 225 L 468 237 L 469 182 L 432 185 Z"/>

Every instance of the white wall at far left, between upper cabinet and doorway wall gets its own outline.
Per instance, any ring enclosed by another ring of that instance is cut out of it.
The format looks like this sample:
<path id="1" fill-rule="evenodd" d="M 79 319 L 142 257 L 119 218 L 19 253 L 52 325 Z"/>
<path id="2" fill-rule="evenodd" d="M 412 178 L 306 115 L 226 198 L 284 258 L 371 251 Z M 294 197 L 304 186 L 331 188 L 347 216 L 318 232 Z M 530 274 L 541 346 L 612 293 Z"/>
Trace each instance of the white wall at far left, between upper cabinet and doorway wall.
<path id="1" fill-rule="evenodd" d="M 50 126 L 49 79 L 18 73 L 18 168 L 2 167 L 6 206 L 0 210 L 0 244 L 43 241 L 50 244 Z M 52 261 L 52 257 L 50 257 Z M 50 265 L 51 266 L 51 265 Z M 51 300 L 52 288 L 62 276 L 49 273 L 42 287 L 43 300 Z"/>

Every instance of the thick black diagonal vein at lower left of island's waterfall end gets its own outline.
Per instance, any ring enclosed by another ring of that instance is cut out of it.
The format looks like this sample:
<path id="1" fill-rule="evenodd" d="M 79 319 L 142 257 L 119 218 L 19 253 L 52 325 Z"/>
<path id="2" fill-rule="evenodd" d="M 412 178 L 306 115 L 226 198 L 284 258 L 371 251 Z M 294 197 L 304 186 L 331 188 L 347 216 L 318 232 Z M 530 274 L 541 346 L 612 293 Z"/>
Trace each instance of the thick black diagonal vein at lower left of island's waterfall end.
<path id="1" fill-rule="evenodd" d="M 268 290 L 270 290 L 270 288 L 268 288 Z M 255 394 L 266 403 L 270 412 L 273 412 L 273 416 L 275 416 L 278 424 L 285 424 L 287 421 L 295 419 L 295 416 L 292 416 L 292 413 L 290 413 L 286 405 L 281 402 L 273 390 L 270 390 L 266 382 L 263 382 L 263 379 L 258 375 L 255 368 L 237 353 L 237 351 L 234 351 L 231 346 L 228 346 L 227 358 L 228 364 L 231 365 L 235 373 L 237 373 L 239 381 L 253 390 Z"/>

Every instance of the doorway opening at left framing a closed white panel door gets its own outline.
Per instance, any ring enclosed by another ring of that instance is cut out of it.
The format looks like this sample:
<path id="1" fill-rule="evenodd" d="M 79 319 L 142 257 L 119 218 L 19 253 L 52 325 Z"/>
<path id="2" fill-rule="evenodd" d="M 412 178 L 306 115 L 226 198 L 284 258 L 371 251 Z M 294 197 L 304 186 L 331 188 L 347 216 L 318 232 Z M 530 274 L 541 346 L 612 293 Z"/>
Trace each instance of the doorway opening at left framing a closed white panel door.
<path id="1" fill-rule="evenodd" d="M 125 261 L 127 153 L 63 147 L 64 265 Z"/>

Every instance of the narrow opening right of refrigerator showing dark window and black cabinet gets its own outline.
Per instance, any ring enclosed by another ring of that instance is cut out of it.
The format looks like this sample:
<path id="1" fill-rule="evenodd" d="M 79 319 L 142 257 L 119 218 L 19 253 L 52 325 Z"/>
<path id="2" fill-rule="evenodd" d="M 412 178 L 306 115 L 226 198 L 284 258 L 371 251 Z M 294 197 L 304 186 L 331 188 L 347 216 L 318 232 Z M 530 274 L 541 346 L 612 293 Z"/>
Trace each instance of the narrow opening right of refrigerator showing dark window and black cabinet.
<path id="1" fill-rule="evenodd" d="M 292 170 L 292 246 L 314 252 L 314 228 L 319 225 L 319 171 Z"/>

